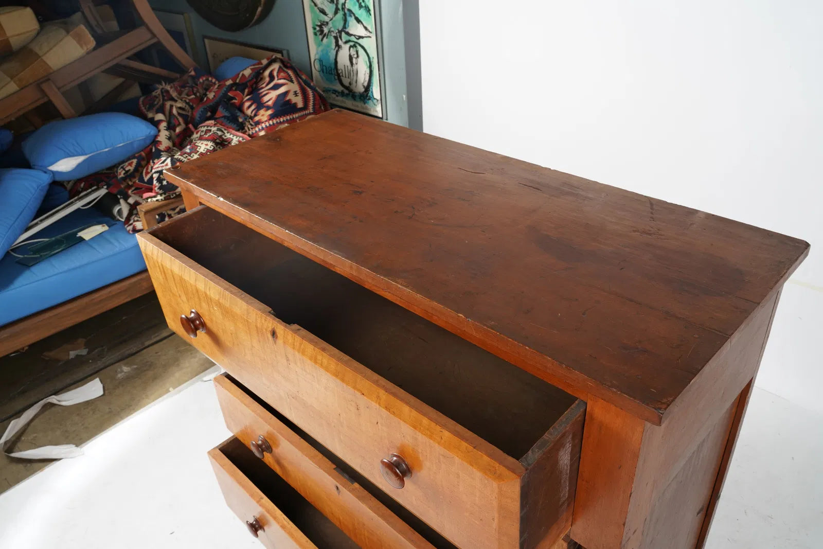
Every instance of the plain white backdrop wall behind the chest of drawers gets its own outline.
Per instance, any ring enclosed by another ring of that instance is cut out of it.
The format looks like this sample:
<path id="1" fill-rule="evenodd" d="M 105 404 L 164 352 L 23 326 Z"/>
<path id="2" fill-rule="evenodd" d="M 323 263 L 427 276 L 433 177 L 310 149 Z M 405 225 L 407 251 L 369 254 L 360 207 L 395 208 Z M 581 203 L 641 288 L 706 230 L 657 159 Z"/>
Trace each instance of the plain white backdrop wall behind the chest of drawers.
<path id="1" fill-rule="evenodd" d="M 421 0 L 434 133 L 807 240 L 760 387 L 823 411 L 823 2 Z"/>

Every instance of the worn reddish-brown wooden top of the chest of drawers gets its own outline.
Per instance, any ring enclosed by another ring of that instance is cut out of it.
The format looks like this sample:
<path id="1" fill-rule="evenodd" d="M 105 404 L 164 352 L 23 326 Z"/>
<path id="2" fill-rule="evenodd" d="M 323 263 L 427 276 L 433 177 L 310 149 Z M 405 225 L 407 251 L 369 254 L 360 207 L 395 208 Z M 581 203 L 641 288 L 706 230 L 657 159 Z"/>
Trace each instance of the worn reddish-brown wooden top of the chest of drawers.
<path id="1" fill-rule="evenodd" d="M 515 365 L 656 424 L 809 248 L 346 111 L 166 173 Z"/>

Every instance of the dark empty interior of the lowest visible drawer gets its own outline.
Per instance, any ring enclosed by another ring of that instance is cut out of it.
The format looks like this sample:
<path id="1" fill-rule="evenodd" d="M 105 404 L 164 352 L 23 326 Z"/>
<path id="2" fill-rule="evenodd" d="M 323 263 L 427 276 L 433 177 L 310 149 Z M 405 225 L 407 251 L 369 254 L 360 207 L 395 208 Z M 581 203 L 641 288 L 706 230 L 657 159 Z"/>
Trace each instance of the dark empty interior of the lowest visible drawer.
<path id="1" fill-rule="evenodd" d="M 220 451 L 318 549 L 357 549 L 357 544 L 350 537 L 268 468 L 266 463 L 255 458 L 242 442 L 229 440 L 221 445 Z"/>

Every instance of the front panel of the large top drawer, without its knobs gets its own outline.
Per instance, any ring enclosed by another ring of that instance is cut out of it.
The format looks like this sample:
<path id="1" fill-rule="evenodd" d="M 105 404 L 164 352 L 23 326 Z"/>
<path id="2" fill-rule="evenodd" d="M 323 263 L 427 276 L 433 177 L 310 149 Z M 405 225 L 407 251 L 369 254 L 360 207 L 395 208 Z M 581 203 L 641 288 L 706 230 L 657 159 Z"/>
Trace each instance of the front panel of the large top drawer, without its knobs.
<path id="1" fill-rule="evenodd" d="M 459 547 L 519 547 L 523 465 L 151 235 L 138 235 L 166 320 L 300 429 Z M 189 338 L 191 309 L 205 331 Z M 402 489 L 380 473 L 399 454 Z"/>

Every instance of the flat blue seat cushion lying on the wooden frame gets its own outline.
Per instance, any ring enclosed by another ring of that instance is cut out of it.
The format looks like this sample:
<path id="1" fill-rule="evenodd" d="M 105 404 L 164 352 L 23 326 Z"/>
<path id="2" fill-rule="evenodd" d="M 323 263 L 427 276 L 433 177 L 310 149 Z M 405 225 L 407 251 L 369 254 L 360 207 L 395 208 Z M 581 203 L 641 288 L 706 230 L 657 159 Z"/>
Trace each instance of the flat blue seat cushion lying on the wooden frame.
<path id="1" fill-rule="evenodd" d="M 93 207 L 72 212 L 31 238 L 62 235 L 97 223 L 109 225 L 109 230 L 31 267 L 15 263 L 12 254 L 3 256 L 0 260 L 0 326 L 146 268 L 135 235 L 128 234 L 123 223 L 113 221 Z"/>

